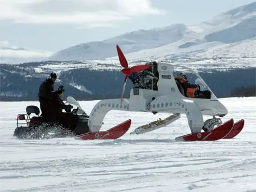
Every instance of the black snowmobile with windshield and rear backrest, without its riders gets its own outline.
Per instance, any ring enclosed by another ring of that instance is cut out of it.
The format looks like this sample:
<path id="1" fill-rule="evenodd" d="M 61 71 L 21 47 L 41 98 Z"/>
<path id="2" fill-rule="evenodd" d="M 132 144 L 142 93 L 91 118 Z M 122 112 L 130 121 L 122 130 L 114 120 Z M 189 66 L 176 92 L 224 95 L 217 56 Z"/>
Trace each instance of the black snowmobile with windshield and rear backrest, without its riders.
<path id="1" fill-rule="evenodd" d="M 39 116 L 40 110 L 38 106 L 28 105 L 26 114 L 18 114 L 16 118 L 16 129 L 13 136 L 19 139 L 45 139 L 89 133 L 89 116 L 81 108 L 80 104 L 71 96 L 67 97 L 66 103 L 76 106 L 76 108 L 72 108 L 71 112 L 76 117 L 75 130 L 69 130 L 61 123 L 44 122 L 43 116 Z M 36 116 L 30 117 L 31 113 L 36 114 Z"/>

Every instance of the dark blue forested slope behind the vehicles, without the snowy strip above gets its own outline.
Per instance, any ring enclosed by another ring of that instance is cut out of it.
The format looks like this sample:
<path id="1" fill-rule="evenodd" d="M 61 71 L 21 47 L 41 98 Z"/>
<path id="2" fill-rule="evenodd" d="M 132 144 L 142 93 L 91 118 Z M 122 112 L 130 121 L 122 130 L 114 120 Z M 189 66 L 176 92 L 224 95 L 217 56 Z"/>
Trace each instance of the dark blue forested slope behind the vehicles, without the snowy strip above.
<path id="1" fill-rule="evenodd" d="M 52 70 L 36 72 L 35 66 L 30 65 L 0 65 L 0 101 L 38 101 L 38 88 Z M 255 96 L 255 68 L 202 68 L 200 71 L 200 76 L 218 98 Z M 120 98 L 125 76 L 119 70 L 80 68 L 61 71 L 58 79 L 60 82 L 55 83 L 55 89 L 64 86 L 63 99 L 73 96 L 77 100 L 101 100 Z M 195 78 L 189 76 L 189 80 L 194 82 Z M 128 80 L 125 98 L 129 98 L 132 87 Z"/>

